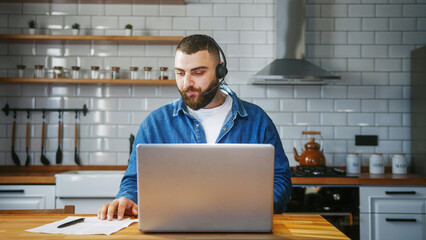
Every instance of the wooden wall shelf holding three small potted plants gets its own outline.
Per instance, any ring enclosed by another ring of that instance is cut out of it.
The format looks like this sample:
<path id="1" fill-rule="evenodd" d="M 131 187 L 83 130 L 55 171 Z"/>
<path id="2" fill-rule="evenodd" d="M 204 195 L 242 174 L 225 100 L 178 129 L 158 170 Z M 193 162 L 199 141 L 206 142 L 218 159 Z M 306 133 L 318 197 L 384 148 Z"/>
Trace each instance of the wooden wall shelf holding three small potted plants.
<path id="1" fill-rule="evenodd" d="M 182 36 L 98 36 L 98 35 L 28 35 L 0 34 L 0 40 L 13 40 L 12 43 L 81 43 L 81 44 L 129 44 L 129 45 L 175 45 Z"/>

